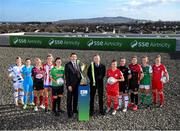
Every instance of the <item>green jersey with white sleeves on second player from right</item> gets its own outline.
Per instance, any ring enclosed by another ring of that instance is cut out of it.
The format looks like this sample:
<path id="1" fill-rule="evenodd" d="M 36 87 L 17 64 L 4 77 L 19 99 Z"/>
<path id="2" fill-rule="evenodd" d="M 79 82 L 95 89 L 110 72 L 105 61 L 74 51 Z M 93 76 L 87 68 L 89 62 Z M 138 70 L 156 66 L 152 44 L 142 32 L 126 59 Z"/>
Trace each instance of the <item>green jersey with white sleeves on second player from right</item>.
<path id="1" fill-rule="evenodd" d="M 150 85 L 151 84 L 151 73 L 152 73 L 152 67 L 150 65 L 148 66 L 141 66 L 143 73 L 144 73 L 144 77 L 142 78 L 142 80 L 140 81 L 141 85 Z"/>

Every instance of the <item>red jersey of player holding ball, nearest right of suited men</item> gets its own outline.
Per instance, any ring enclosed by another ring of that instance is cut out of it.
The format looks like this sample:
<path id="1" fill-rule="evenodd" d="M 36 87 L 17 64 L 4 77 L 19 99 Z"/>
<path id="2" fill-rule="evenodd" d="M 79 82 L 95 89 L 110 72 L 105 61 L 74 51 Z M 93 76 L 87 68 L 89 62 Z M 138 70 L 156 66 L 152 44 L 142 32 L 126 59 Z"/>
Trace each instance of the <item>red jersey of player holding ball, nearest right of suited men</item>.
<path id="1" fill-rule="evenodd" d="M 112 69 L 108 69 L 106 76 L 108 78 L 109 77 L 113 77 L 115 79 L 120 79 L 120 78 L 122 78 L 123 74 L 122 74 L 122 72 L 119 69 L 116 69 L 114 71 Z M 118 91 L 119 92 L 119 82 L 117 81 L 114 84 L 107 83 L 107 88 L 108 88 L 108 90 Z"/>

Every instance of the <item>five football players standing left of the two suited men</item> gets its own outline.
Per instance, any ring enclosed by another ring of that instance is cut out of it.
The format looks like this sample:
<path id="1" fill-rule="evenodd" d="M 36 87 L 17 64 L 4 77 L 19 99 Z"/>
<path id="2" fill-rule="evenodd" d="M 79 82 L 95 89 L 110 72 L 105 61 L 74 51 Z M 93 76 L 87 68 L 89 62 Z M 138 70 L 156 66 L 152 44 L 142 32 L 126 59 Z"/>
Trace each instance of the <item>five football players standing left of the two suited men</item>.
<path id="1" fill-rule="evenodd" d="M 51 90 L 52 109 L 60 110 L 64 91 L 64 67 L 61 65 L 61 58 L 57 57 L 53 62 L 53 56 L 48 54 L 45 64 L 42 64 L 40 58 L 35 58 L 34 63 L 32 66 L 31 59 L 26 58 L 23 65 L 21 58 L 17 57 L 16 64 L 8 69 L 13 81 L 15 105 L 21 104 L 23 109 L 27 109 L 29 96 L 29 105 L 34 106 L 35 111 L 38 111 L 38 105 L 39 108 L 48 111 L 48 96 Z"/>

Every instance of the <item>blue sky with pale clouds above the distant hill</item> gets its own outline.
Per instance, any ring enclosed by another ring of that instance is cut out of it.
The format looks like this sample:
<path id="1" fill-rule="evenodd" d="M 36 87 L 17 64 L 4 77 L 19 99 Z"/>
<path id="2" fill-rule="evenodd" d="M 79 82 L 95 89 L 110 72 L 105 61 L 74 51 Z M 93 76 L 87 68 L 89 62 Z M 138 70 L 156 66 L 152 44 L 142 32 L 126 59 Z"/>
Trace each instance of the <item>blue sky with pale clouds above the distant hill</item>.
<path id="1" fill-rule="evenodd" d="M 179 20 L 180 0 L 0 0 L 0 21 L 56 21 L 124 16 Z"/>

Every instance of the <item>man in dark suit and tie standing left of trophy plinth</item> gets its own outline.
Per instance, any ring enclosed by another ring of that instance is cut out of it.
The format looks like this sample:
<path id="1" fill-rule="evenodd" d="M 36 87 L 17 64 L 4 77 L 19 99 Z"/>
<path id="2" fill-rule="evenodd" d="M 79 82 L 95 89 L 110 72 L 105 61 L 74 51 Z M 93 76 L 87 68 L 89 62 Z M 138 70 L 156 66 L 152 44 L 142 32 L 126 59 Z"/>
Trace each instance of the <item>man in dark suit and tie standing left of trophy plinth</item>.
<path id="1" fill-rule="evenodd" d="M 65 79 L 67 86 L 67 113 L 71 118 L 73 113 L 78 113 L 78 86 L 81 81 L 81 68 L 77 62 L 76 53 L 71 53 L 70 62 L 65 65 Z M 72 108 L 73 105 L 73 108 Z"/>

